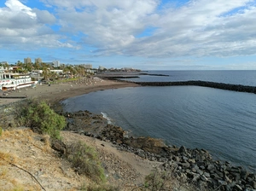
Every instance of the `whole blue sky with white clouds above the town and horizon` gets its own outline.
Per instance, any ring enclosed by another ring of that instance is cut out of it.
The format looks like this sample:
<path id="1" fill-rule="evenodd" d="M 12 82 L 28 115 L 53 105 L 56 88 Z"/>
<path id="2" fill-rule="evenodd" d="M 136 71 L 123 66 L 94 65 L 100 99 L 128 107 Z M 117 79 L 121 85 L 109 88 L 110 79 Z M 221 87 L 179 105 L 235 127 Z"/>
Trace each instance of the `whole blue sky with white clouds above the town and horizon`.
<path id="1" fill-rule="evenodd" d="M 256 0 L 0 0 L 0 61 L 256 70 Z"/>

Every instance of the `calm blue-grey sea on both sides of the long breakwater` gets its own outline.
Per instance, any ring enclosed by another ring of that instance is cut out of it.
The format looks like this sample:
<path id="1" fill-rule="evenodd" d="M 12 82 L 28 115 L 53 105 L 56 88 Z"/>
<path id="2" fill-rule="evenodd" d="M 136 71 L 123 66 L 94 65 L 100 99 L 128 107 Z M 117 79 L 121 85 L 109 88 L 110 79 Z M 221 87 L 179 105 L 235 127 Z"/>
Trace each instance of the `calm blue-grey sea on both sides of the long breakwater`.
<path id="1" fill-rule="evenodd" d="M 147 71 L 139 82 L 202 80 L 256 86 L 256 71 Z M 102 113 L 133 136 L 204 148 L 214 159 L 256 172 L 256 95 L 199 86 L 101 90 L 63 101 L 64 110 Z"/>

